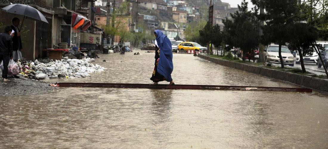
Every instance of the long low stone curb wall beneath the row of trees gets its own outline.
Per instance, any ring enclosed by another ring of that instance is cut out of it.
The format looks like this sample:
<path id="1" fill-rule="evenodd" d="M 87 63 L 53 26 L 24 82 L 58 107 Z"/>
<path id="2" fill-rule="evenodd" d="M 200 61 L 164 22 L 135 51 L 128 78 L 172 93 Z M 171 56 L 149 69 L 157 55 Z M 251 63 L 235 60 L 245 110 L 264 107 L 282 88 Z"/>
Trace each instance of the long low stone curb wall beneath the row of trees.
<path id="1" fill-rule="evenodd" d="M 238 62 L 232 62 L 228 60 L 221 60 L 218 58 L 209 57 L 203 54 L 198 54 L 198 57 L 206 59 L 210 62 L 247 71 L 250 73 L 258 74 L 261 76 L 286 81 L 292 84 L 296 84 L 302 87 L 311 88 L 318 91 L 328 92 L 328 80 L 326 79 L 320 79 L 310 76 L 303 76 L 291 72 L 285 72 L 285 71 L 279 71 L 275 69 L 269 69 L 265 67 L 259 67 L 259 66 L 253 66 L 253 65 L 247 65 L 242 64 Z"/>

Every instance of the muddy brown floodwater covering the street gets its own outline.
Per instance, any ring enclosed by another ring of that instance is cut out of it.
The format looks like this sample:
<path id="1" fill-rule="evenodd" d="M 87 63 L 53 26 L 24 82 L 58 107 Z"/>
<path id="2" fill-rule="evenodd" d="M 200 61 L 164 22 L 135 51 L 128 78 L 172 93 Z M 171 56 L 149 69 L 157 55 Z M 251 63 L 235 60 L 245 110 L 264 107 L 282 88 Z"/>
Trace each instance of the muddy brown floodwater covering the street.
<path id="1" fill-rule="evenodd" d="M 139 52 L 101 54 L 94 63 L 107 71 L 56 81 L 151 84 L 154 53 Z M 172 77 L 176 84 L 296 87 L 189 54 L 174 54 Z M 0 97 L 0 148 L 327 148 L 327 97 L 80 87 Z"/>

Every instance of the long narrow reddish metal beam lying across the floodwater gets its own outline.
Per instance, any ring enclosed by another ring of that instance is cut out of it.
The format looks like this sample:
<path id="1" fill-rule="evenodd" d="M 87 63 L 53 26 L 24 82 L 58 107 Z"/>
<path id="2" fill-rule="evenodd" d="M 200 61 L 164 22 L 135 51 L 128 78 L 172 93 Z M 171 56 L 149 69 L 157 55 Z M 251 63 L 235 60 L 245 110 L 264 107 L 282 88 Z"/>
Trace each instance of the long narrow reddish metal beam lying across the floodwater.
<path id="1" fill-rule="evenodd" d="M 57 83 L 58 87 L 109 87 L 109 88 L 151 88 L 151 89 L 199 89 L 199 90 L 243 90 L 277 92 L 312 92 L 308 88 L 228 86 L 228 85 L 150 85 L 150 84 L 113 84 L 113 83 Z"/>

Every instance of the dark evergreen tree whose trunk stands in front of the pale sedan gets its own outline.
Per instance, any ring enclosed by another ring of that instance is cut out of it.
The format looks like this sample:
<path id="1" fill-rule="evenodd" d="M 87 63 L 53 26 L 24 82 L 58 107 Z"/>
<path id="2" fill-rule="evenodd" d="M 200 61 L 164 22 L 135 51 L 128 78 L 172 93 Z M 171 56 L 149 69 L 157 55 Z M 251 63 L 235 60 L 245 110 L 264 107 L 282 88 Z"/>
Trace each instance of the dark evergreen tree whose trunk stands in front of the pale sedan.
<path id="1" fill-rule="evenodd" d="M 263 27 L 263 44 L 271 42 L 279 45 L 279 58 L 281 68 L 284 62 L 281 56 L 281 46 L 291 39 L 288 25 L 294 23 L 294 17 L 299 12 L 297 0 L 262 0 L 266 13 L 264 14 L 266 26 Z"/>

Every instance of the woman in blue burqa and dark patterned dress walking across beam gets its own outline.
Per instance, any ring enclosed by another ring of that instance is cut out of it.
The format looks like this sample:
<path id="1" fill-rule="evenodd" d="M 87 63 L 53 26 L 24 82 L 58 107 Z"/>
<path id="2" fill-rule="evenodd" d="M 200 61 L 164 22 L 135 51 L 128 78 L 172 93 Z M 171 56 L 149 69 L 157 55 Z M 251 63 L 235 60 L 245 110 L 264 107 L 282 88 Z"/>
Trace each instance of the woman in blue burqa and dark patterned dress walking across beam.
<path id="1" fill-rule="evenodd" d="M 174 85 L 171 77 L 173 71 L 171 41 L 160 30 L 155 30 L 154 34 L 156 37 L 155 67 L 150 80 L 154 82 L 153 85 L 158 84 L 160 81 L 167 81 L 170 82 L 169 85 Z"/>

